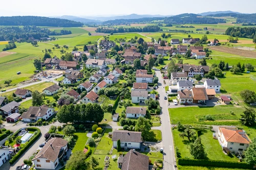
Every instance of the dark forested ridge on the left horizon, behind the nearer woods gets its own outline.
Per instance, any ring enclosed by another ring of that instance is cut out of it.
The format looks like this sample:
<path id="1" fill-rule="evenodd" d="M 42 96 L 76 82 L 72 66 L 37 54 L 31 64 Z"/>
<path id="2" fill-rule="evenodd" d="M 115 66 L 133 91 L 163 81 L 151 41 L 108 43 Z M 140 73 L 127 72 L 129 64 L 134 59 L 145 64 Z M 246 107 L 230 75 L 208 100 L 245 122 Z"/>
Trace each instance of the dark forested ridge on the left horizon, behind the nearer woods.
<path id="1" fill-rule="evenodd" d="M 1 16 L 0 26 L 82 27 L 83 23 L 42 16 Z"/>

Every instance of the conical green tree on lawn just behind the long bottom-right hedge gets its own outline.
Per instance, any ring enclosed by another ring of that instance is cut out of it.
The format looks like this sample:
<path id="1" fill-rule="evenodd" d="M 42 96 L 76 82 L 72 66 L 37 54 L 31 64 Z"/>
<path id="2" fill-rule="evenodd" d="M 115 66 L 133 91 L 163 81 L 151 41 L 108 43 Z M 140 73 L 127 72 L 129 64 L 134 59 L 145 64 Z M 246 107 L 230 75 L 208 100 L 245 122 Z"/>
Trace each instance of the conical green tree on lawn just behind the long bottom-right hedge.
<path id="1" fill-rule="evenodd" d="M 194 159 L 206 159 L 207 153 L 204 151 L 203 144 L 201 143 L 201 138 L 198 137 L 194 143 L 190 144 L 190 154 Z"/>

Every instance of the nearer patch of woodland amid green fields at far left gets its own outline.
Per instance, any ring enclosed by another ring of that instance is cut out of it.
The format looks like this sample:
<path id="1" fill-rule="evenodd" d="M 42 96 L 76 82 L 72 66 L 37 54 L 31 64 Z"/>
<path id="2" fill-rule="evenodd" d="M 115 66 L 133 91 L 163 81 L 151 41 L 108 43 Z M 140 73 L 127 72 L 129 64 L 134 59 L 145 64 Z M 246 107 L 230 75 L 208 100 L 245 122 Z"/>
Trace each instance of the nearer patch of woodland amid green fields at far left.
<path id="1" fill-rule="evenodd" d="M 39 28 L 36 26 L 24 27 L 0 27 L 0 41 L 12 41 L 17 39 L 29 38 L 40 39 L 42 37 L 49 37 L 49 35 L 66 35 L 72 34 L 71 31 L 61 30 L 60 33 L 50 31 L 47 28 Z"/>

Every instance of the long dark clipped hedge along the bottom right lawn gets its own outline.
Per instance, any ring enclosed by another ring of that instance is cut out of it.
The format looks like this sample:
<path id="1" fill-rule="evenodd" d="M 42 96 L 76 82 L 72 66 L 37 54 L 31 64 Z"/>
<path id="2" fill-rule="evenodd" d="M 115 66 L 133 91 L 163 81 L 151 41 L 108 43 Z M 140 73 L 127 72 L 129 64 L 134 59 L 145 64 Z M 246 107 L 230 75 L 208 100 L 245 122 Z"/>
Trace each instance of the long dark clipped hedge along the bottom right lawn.
<path id="1" fill-rule="evenodd" d="M 179 165 L 194 165 L 194 166 L 219 166 L 219 167 L 233 167 L 233 168 L 244 168 L 251 169 L 252 164 L 245 162 L 234 162 L 234 161 L 222 161 L 222 160 L 207 160 L 207 159 L 186 159 L 179 158 Z"/>

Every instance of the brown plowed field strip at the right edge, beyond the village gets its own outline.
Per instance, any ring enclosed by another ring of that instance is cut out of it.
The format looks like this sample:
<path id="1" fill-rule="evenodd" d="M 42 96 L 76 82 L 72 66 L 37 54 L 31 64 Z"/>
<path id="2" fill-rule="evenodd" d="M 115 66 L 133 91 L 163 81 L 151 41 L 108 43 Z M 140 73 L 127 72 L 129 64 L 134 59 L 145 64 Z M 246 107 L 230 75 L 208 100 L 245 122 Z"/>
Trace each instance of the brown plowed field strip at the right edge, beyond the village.
<path id="1" fill-rule="evenodd" d="M 229 48 L 225 46 L 209 46 L 208 48 L 210 50 L 215 50 L 218 52 L 230 53 L 230 54 L 235 54 L 238 56 L 249 57 L 249 58 L 256 58 L 256 52 L 253 52 L 253 51 L 240 50 L 237 48 Z"/>

